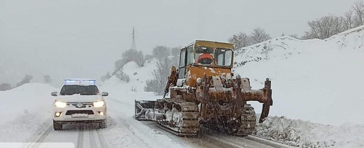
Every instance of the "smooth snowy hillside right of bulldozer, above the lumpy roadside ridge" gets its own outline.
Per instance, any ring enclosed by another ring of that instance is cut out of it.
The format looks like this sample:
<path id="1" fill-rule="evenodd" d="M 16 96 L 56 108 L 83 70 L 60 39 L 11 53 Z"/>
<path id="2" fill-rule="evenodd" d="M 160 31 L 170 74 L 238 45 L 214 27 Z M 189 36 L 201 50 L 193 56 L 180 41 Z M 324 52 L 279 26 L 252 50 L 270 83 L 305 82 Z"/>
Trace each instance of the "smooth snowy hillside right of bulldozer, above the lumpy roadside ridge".
<path id="1" fill-rule="evenodd" d="M 364 124 L 364 26 L 326 40 L 279 37 L 236 52 L 235 74 L 252 87 L 272 79 L 270 115 L 315 123 Z M 242 61 L 246 62 L 242 66 Z M 240 63 L 240 64 L 239 64 Z M 256 111 L 259 103 L 252 102 Z"/>

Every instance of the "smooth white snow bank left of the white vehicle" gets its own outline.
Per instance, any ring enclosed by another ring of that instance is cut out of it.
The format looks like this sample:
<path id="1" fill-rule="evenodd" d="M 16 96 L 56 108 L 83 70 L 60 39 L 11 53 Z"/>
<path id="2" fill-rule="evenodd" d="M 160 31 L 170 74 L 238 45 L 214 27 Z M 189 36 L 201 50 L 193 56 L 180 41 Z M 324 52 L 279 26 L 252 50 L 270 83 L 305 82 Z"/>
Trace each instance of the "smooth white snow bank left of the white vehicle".
<path id="1" fill-rule="evenodd" d="M 26 83 L 12 90 L 0 91 L 0 142 L 25 142 L 40 124 L 51 117 L 54 87 Z"/>

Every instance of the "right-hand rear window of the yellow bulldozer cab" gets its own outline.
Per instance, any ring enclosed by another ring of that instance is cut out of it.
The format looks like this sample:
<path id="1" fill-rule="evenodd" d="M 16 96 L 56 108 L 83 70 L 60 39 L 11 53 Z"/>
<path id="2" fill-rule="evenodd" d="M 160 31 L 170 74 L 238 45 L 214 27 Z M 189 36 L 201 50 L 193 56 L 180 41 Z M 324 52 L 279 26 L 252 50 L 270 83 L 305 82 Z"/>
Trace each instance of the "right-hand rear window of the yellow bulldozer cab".
<path id="1" fill-rule="evenodd" d="M 231 66 L 233 51 L 230 49 L 216 49 L 216 65 L 217 66 Z"/>

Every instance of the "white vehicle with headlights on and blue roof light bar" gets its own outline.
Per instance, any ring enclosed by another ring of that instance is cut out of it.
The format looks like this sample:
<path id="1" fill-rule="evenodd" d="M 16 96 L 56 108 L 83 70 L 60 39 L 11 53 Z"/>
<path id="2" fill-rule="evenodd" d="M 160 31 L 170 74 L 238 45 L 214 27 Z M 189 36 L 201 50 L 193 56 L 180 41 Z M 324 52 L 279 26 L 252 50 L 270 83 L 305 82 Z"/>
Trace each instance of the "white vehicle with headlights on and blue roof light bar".
<path id="1" fill-rule="evenodd" d="M 106 128 L 106 102 L 99 93 L 94 79 L 65 79 L 58 94 L 51 93 L 56 99 L 53 104 L 53 128 L 61 130 L 66 123 L 98 123 Z"/>

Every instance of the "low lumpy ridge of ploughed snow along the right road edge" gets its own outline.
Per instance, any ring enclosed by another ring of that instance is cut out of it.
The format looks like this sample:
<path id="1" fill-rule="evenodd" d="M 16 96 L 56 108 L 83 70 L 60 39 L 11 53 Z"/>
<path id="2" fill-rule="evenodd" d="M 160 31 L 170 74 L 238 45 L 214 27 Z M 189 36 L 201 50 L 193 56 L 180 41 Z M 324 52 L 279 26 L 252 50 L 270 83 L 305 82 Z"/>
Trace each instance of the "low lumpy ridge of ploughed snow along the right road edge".
<path id="1" fill-rule="evenodd" d="M 330 126 L 292 120 L 284 116 L 270 116 L 257 124 L 255 136 L 302 148 L 358 148 L 364 147 L 364 126 L 343 124 Z"/>

